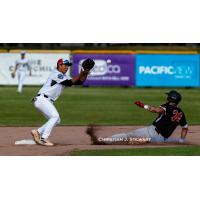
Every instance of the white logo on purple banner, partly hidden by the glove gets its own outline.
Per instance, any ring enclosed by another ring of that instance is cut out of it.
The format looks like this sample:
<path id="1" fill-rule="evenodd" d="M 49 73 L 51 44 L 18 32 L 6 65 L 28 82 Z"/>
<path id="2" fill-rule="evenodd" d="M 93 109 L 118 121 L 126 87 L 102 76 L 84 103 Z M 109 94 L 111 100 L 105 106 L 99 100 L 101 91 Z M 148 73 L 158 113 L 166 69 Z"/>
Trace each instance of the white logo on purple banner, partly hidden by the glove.
<path id="1" fill-rule="evenodd" d="M 81 60 L 79 62 L 79 71 L 81 69 L 82 62 L 84 60 Z M 90 75 L 91 76 L 104 76 L 106 74 L 120 74 L 121 73 L 121 67 L 119 65 L 112 65 L 111 60 L 94 60 L 95 66 L 91 70 Z"/>

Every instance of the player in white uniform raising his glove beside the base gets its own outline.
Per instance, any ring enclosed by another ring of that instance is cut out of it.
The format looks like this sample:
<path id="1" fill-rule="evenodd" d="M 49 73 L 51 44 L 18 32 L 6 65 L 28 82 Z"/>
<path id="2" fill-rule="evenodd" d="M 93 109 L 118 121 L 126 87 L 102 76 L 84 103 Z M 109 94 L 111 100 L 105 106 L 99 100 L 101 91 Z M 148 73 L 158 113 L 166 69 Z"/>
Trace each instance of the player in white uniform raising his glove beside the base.
<path id="1" fill-rule="evenodd" d="M 84 64 L 85 63 L 94 66 L 94 61 L 92 59 L 86 59 Z M 57 69 L 49 75 L 37 96 L 33 98 L 34 106 L 48 119 L 40 128 L 31 131 L 37 144 L 44 146 L 54 145 L 48 139 L 54 126 L 60 123 L 60 116 L 54 106 L 54 101 L 58 99 L 65 87 L 83 84 L 90 70 L 84 68 L 84 64 L 82 64 L 83 69 L 81 69 L 79 75 L 75 78 L 71 78 L 66 72 L 72 63 L 68 60 L 59 59 L 57 61 Z"/>

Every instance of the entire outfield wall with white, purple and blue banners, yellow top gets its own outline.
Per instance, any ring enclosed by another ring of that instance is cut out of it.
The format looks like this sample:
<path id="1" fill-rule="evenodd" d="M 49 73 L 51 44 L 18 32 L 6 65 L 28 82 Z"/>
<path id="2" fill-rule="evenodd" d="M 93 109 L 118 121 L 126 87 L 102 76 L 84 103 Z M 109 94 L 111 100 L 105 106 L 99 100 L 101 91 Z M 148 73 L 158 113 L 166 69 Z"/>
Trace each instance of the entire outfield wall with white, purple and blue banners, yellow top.
<path id="1" fill-rule="evenodd" d="M 95 67 L 84 83 L 86 86 L 199 87 L 200 55 L 196 51 L 127 51 L 127 50 L 27 50 L 32 75 L 25 85 L 43 84 L 56 68 L 59 58 L 72 59 L 70 73 L 76 76 L 86 58 Z M 0 51 L 0 85 L 17 85 L 11 77 L 19 50 Z"/>

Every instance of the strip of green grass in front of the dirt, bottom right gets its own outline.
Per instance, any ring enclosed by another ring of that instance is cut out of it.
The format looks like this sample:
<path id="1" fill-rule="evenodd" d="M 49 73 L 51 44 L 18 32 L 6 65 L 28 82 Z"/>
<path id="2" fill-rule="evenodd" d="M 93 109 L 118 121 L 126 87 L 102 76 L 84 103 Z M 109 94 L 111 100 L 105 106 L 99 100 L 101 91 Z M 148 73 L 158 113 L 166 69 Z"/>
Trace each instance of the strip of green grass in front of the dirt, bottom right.
<path id="1" fill-rule="evenodd" d="M 73 151 L 71 156 L 200 156 L 199 146 Z"/>

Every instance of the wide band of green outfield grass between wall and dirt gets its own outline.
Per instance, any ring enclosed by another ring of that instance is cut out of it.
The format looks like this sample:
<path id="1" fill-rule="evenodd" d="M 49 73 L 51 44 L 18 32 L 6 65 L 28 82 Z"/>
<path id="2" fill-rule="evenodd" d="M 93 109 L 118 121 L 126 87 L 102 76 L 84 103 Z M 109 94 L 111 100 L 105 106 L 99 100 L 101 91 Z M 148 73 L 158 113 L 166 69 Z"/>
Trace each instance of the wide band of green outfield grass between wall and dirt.
<path id="1" fill-rule="evenodd" d="M 46 119 L 30 103 L 40 87 L 24 87 L 23 94 L 16 87 L 0 87 L 0 126 L 38 126 Z M 55 105 L 61 125 L 147 125 L 157 116 L 133 105 L 142 100 L 146 104 L 165 102 L 168 88 L 90 87 L 67 88 Z M 178 89 L 183 95 L 181 107 L 189 124 L 199 124 L 200 90 Z"/>

